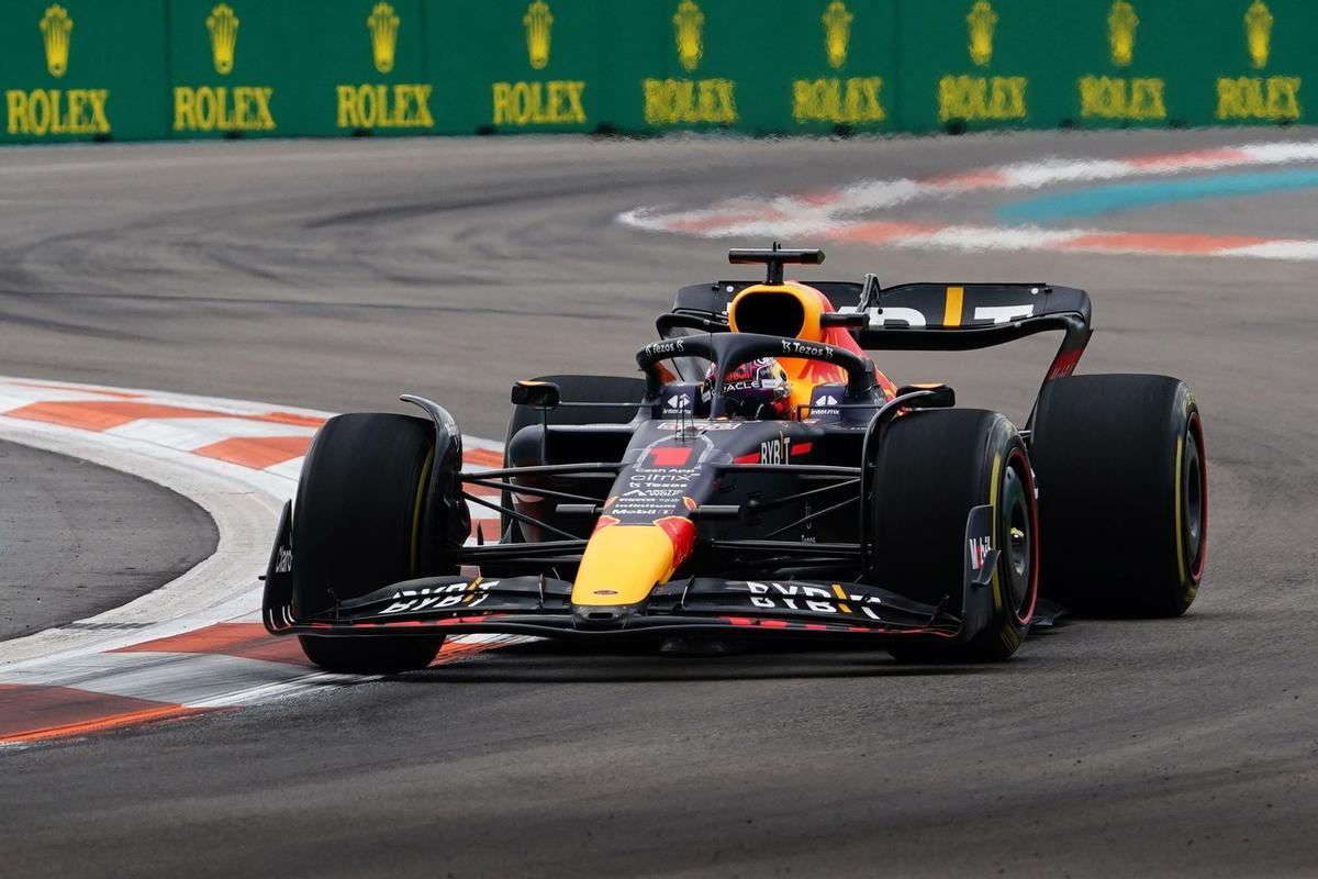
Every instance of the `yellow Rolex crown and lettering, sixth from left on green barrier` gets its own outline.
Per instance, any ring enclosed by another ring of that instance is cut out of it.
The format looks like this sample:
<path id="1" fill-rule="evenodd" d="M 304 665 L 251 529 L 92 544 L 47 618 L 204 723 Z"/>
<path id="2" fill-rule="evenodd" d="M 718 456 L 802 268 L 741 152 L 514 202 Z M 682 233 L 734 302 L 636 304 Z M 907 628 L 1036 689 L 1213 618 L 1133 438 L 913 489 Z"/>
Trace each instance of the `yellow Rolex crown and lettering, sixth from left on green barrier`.
<path id="1" fill-rule="evenodd" d="M 820 16 L 824 24 L 824 58 L 829 67 L 846 65 L 855 16 L 842 0 L 832 0 Z M 807 123 L 863 125 L 887 119 L 879 92 L 880 76 L 820 76 L 792 82 L 792 117 Z"/>

